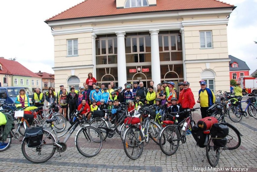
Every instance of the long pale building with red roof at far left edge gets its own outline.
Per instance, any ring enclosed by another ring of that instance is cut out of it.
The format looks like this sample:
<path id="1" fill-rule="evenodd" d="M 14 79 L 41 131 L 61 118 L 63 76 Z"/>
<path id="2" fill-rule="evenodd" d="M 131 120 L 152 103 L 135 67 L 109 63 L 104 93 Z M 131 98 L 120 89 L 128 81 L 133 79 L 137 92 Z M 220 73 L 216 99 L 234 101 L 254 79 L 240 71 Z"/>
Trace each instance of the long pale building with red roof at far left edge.
<path id="1" fill-rule="evenodd" d="M 42 78 L 21 63 L 0 57 L 0 82 L 2 87 L 42 88 Z"/>

